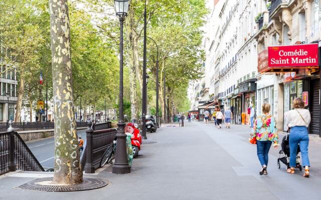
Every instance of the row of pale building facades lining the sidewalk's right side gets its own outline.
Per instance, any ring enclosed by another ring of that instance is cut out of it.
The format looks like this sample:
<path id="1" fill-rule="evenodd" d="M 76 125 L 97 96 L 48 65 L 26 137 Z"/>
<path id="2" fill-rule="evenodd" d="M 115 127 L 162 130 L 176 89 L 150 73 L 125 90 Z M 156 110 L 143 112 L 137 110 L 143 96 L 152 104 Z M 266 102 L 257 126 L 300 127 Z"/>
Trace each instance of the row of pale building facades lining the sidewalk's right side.
<path id="1" fill-rule="evenodd" d="M 315 48 L 321 46 L 320 1 L 218 0 L 213 3 L 209 17 L 213 30 L 205 42 L 208 44 L 205 63 L 210 70 L 205 73 L 205 79 L 209 82 L 209 96 L 214 99 L 202 98 L 202 102 L 217 100 L 217 107 L 231 107 L 234 123 L 248 123 L 249 107 L 254 106 L 260 113 L 261 105 L 270 103 L 278 130 L 284 131 L 292 100 L 302 97 L 312 116 L 310 133 L 319 134 L 319 62 L 281 64 L 273 68 L 267 60 L 271 60 L 269 49 L 284 45 L 299 50 L 314 44 L 309 47 L 313 46 L 312 51 L 317 52 Z"/>

